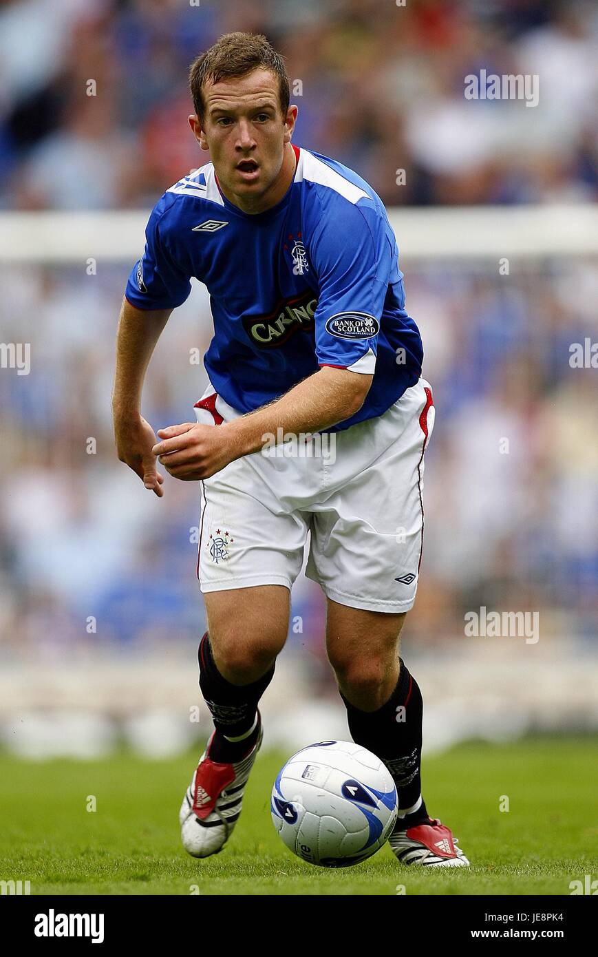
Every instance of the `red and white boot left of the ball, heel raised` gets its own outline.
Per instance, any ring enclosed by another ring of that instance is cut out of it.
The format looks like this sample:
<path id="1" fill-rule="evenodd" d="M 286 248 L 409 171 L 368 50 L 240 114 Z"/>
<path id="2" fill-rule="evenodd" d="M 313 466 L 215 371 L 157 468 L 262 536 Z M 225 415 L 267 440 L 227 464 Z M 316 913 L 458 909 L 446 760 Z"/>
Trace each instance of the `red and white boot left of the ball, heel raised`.
<path id="1" fill-rule="evenodd" d="M 192 857 L 218 854 L 233 834 L 241 813 L 243 791 L 263 737 L 259 711 L 257 720 L 257 741 L 239 761 L 223 764 L 210 760 L 215 731 L 199 759 L 179 812 L 183 847 Z"/>

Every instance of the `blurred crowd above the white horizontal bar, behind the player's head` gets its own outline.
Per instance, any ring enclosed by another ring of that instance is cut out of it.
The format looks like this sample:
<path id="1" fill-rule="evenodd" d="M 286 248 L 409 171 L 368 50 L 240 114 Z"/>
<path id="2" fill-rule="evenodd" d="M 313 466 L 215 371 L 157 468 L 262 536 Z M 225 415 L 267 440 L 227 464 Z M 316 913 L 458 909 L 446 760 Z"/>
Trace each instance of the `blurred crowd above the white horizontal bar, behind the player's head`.
<path id="1" fill-rule="evenodd" d="M 188 65 L 232 30 L 286 56 L 296 142 L 389 204 L 596 197 L 591 0 L 3 0 L 0 206 L 153 206 L 208 159 Z M 536 75 L 538 105 L 465 100 L 482 69 Z"/>

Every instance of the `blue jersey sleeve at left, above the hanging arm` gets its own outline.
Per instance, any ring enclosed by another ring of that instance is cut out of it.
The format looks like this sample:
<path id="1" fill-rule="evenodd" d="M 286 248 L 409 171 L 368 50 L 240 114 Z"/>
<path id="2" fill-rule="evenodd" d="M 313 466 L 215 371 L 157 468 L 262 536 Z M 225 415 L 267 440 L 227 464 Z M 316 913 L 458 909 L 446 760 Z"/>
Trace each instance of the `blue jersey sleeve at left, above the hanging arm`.
<path id="1" fill-rule="evenodd" d="M 144 255 L 133 266 L 126 284 L 124 296 L 138 309 L 174 309 L 191 291 L 187 271 L 172 254 L 168 209 L 163 196 L 147 220 Z"/>

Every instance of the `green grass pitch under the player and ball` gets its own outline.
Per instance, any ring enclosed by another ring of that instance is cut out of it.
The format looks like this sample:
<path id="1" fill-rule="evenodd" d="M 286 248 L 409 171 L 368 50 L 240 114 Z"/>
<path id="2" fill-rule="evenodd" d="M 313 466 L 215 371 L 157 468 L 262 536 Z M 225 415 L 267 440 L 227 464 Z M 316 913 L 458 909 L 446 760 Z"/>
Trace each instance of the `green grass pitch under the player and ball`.
<path id="1" fill-rule="evenodd" d="M 568 895 L 571 880 L 598 877 L 589 739 L 471 743 L 425 759 L 428 809 L 473 865 L 443 872 L 405 867 L 388 847 L 343 870 L 294 857 L 270 818 L 270 790 L 288 756 L 273 752 L 258 757 L 230 843 L 194 860 L 177 815 L 197 756 L 25 763 L 1 755 L 0 879 L 30 880 L 32 894 L 50 895 Z M 95 812 L 86 810 L 90 795 Z"/>

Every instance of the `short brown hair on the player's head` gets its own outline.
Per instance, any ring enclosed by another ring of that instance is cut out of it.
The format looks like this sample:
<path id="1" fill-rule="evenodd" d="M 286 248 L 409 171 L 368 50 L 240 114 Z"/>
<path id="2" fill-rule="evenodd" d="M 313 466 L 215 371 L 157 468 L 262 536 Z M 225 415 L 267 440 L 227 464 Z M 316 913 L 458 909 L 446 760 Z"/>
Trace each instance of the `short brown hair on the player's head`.
<path id="1" fill-rule="evenodd" d="M 282 116 L 286 117 L 291 94 L 282 56 L 261 33 L 225 33 L 189 68 L 189 91 L 199 119 L 204 119 L 202 87 L 206 80 L 218 83 L 224 78 L 244 77 L 260 67 L 277 76 L 278 99 Z"/>

